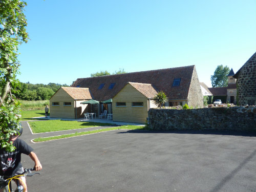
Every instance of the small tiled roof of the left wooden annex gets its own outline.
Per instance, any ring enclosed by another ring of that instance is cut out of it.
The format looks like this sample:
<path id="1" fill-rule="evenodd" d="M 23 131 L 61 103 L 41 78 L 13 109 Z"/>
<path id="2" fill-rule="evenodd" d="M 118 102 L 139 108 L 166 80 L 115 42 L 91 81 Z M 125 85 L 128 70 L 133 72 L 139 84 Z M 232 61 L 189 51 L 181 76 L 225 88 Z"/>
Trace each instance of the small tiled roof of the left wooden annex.
<path id="1" fill-rule="evenodd" d="M 91 93 L 88 88 L 73 88 L 73 87 L 61 87 L 65 90 L 73 99 L 92 99 Z"/>

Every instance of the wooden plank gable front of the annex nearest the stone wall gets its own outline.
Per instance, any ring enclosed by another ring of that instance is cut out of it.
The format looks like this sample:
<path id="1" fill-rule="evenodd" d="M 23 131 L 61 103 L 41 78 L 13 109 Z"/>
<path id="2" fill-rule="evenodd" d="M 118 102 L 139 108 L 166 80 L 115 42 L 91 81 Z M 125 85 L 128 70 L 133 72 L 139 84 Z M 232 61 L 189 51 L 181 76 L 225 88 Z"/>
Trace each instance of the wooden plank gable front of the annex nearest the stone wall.
<path id="1" fill-rule="evenodd" d="M 148 100 L 131 84 L 126 86 L 112 99 L 114 121 L 145 123 Z M 126 106 L 116 106 L 116 102 L 125 102 Z M 143 102 L 143 107 L 133 107 L 132 102 Z"/>

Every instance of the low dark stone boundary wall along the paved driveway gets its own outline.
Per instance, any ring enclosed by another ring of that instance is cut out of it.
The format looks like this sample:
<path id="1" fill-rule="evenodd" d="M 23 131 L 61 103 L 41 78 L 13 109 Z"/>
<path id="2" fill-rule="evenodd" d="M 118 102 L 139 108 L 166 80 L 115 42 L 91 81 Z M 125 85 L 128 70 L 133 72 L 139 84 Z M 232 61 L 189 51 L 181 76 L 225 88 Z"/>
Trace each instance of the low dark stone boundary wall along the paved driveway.
<path id="1" fill-rule="evenodd" d="M 256 107 L 203 108 L 192 110 L 150 109 L 152 130 L 256 131 Z"/>

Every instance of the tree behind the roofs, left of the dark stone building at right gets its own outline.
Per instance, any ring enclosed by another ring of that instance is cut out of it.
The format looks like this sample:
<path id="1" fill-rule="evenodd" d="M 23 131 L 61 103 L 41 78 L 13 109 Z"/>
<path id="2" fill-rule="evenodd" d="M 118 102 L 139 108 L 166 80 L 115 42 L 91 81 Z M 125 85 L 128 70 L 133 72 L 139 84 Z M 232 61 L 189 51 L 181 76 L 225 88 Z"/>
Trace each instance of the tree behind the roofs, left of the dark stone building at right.
<path id="1" fill-rule="evenodd" d="M 223 65 L 217 66 L 214 75 L 210 76 L 211 86 L 213 88 L 217 87 L 227 87 L 228 78 L 227 75 L 229 73 L 229 67 Z"/>

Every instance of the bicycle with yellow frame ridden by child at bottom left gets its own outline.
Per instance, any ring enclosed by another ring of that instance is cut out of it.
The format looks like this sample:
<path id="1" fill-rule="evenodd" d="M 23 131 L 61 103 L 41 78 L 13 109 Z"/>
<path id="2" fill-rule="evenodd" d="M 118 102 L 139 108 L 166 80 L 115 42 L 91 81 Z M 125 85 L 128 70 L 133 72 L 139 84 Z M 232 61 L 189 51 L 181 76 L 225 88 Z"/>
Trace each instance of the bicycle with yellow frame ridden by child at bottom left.
<path id="1" fill-rule="evenodd" d="M 31 177 L 31 176 L 33 176 L 33 175 L 35 175 L 35 174 L 39 174 L 40 175 L 40 173 L 32 173 L 32 170 L 34 170 L 34 168 L 25 168 L 24 169 L 24 172 L 22 173 L 22 174 L 20 174 L 20 175 L 17 175 L 17 176 L 13 176 L 13 177 L 7 177 L 7 176 L 0 176 L 0 181 L 2 181 L 2 182 L 4 182 L 5 183 L 5 187 L 4 187 L 4 191 L 6 191 L 6 192 L 13 192 L 13 190 L 12 190 L 12 186 L 11 186 L 11 181 L 13 180 L 13 179 L 16 179 L 16 180 L 19 180 L 19 181 L 21 181 L 21 182 L 23 182 L 21 179 L 19 179 L 18 177 L 20 177 L 20 176 L 29 176 L 29 177 Z M 28 174 L 26 174 L 26 173 L 28 173 Z M 19 184 L 19 182 L 17 182 L 16 183 L 17 184 L 17 188 L 14 190 L 14 192 L 23 192 L 24 191 L 24 188 L 23 188 L 23 186 L 22 185 L 20 185 Z"/>

